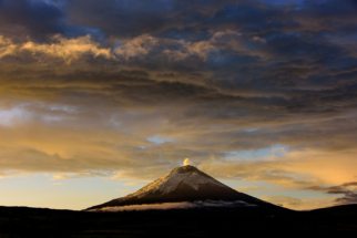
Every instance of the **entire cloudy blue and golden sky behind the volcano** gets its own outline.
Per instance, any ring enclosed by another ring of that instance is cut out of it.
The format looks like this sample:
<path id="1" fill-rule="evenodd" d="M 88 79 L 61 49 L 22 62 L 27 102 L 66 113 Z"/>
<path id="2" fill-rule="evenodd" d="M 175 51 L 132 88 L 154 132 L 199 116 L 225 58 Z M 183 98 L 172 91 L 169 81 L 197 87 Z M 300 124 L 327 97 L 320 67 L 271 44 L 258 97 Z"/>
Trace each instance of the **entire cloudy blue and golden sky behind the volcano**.
<path id="1" fill-rule="evenodd" d="M 357 203 L 355 0 L 0 0 L 0 205 L 84 209 L 182 166 Z"/>

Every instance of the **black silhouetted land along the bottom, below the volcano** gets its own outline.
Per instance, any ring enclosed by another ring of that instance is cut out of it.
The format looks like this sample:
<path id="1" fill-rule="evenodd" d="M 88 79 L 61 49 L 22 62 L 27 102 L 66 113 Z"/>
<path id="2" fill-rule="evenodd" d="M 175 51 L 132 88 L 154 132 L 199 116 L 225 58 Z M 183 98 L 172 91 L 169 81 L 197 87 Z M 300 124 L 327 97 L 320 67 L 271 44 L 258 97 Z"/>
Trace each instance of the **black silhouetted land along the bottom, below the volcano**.
<path id="1" fill-rule="evenodd" d="M 253 207 L 88 213 L 0 207 L 1 238 L 232 237 L 357 231 L 357 205 L 312 211 Z"/>

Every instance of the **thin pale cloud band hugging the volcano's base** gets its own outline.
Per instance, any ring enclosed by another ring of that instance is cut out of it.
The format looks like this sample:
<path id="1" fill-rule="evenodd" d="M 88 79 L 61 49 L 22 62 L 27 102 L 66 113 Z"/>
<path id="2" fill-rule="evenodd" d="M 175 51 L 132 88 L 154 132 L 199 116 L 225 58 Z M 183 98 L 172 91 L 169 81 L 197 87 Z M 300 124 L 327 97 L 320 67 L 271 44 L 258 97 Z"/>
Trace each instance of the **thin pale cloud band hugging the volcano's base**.
<path id="1" fill-rule="evenodd" d="M 236 201 L 183 201 L 183 203 L 164 203 L 164 204 L 144 204 L 122 207 L 103 207 L 100 209 L 92 209 L 89 211 L 123 211 L 123 210 L 166 210 L 166 209 L 192 209 L 204 207 L 254 207 L 254 204 L 247 204 L 242 200 Z"/>

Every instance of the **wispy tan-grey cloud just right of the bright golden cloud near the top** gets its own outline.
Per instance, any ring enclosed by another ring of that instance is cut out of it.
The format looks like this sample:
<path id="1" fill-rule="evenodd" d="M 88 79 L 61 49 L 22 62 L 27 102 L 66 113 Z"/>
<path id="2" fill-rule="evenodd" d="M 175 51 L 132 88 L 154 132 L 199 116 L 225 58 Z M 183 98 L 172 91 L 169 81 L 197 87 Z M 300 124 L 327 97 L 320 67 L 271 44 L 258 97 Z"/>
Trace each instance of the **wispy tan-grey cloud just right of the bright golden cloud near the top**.
<path id="1" fill-rule="evenodd" d="M 142 34 L 131 40 L 119 41 L 113 50 L 116 56 L 126 61 L 162 58 L 172 61 L 183 61 L 196 56 L 197 60 L 206 61 L 213 52 L 222 50 L 242 51 L 252 54 L 241 42 L 242 33 L 232 30 L 214 32 L 210 39 L 198 42 L 185 40 L 159 38 Z"/>

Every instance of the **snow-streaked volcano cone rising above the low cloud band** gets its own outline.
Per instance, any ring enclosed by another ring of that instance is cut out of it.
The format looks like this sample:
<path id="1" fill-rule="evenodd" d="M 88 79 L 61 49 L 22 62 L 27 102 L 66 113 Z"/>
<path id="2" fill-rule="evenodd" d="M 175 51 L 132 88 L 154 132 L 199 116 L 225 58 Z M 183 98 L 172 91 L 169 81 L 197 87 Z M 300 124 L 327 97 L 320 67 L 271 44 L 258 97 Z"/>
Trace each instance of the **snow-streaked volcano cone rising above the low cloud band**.
<path id="1" fill-rule="evenodd" d="M 133 194 L 86 208 L 85 210 L 180 201 L 231 201 L 228 203 L 231 205 L 284 209 L 232 189 L 196 167 L 186 165 L 174 168 L 171 173 L 157 178 Z"/>

